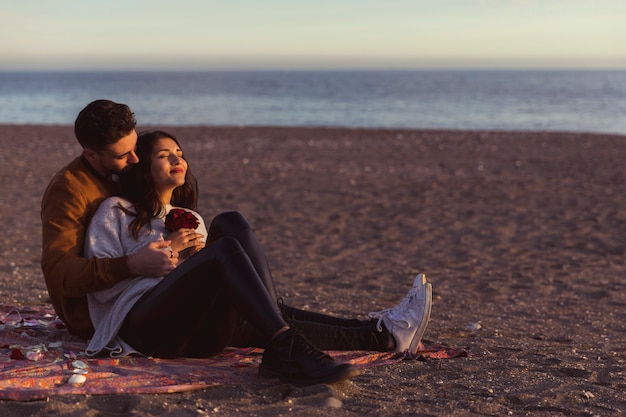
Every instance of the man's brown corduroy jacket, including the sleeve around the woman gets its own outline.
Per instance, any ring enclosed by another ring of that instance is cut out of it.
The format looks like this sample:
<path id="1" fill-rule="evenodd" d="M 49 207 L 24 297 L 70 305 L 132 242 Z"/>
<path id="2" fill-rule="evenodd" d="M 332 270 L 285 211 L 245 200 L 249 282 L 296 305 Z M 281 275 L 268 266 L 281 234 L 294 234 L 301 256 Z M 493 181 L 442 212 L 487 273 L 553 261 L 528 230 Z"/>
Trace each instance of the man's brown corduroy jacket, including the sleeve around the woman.
<path id="1" fill-rule="evenodd" d="M 131 276 L 126 257 L 85 259 L 85 230 L 116 184 L 78 157 L 50 181 L 41 202 L 41 268 L 52 305 L 71 334 L 90 338 L 87 294 Z"/>

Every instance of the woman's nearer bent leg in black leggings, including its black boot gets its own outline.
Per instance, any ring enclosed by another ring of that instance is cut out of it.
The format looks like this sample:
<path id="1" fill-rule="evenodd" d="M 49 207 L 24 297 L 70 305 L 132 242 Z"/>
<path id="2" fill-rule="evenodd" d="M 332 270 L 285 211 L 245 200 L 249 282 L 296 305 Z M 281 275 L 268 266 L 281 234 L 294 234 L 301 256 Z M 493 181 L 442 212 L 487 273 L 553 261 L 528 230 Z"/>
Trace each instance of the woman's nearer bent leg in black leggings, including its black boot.
<path id="1" fill-rule="evenodd" d="M 259 372 L 297 384 L 358 374 L 287 326 L 247 254 L 234 238 L 213 241 L 133 306 L 120 336 L 148 355 L 210 356 L 251 323 L 266 341 Z"/>

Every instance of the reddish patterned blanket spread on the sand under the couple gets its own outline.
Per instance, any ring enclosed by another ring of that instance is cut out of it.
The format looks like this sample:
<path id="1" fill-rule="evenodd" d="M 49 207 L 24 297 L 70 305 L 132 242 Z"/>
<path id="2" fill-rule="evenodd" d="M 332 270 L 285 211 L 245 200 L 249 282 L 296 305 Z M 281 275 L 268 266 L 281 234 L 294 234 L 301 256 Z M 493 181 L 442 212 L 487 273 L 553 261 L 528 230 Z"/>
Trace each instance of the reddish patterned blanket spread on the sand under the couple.
<path id="1" fill-rule="evenodd" d="M 52 310 L 0 306 L 0 400 L 32 401 L 67 394 L 148 394 L 258 381 L 263 350 L 228 349 L 207 359 L 87 358 Z M 463 349 L 420 346 L 416 357 L 381 352 L 329 352 L 370 368 L 401 360 L 467 356 Z"/>

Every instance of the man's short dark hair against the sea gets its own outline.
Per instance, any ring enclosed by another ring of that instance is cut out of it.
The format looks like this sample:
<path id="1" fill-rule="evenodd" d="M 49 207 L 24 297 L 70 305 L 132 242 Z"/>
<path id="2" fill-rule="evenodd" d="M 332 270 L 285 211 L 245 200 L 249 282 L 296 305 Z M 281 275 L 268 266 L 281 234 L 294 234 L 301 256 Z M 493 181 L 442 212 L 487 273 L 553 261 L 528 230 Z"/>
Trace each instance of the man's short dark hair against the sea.
<path id="1" fill-rule="evenodd" d="M 135 114 L 126 104 L 96 100 L 78 113 L 74 134 L 83 148 L 101 149 L 135 129 Z"/>

